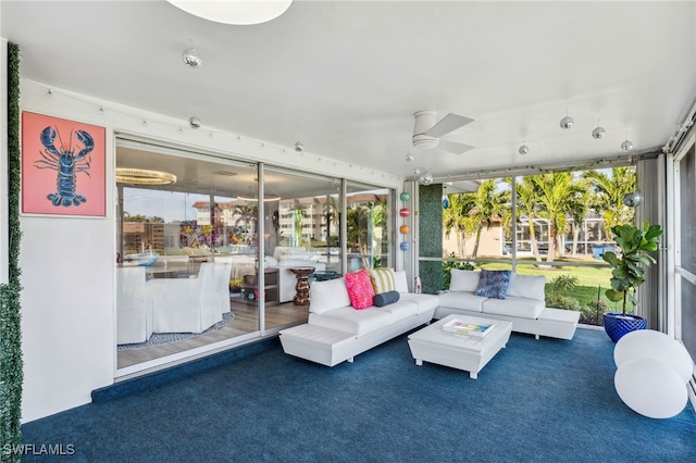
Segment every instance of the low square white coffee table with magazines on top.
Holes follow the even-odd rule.
[[[445,331],[443,325],[452,318],[477,325],[493,324],[484,337]],[[411,354],[417,365],[437,363],[469,372],[476,379],[478,372],[508,343],[512,323],[465,315],[448,315],[409,336]]]

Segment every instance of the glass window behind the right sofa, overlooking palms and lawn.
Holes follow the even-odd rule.
[[[633,221],[634,210],[622,198],[635,190],[634,167],[515,177],[517,247],[508,232],[512,225],[507,225],[512,221],[505,195],[511,182],[483,179],[476,192],[450,196],[453,208],[443,214],[443,252],[455,248],[447,245],[448,232],[459,229],[462,246],[457,249],[464,252],[457,258],[476,267],[544,275],[547,306],[579,310],[582,323],[598,325],[601,313],[621,311],[606,298],[611,268],[601,254],[613,250],[610,226]],[[505,242],[500,251],[496,239]]]

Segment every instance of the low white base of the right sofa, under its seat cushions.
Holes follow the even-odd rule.
[[[522,318],[517,316],[438,306],[435,309],[434,317],[439,320],[450,314],[511,322],[513,331],[534,335],[536,339],[538,339],[539,336],[558,339],[573,339],[575,328],[577,328],[577,321],[580,320],[580,312],[551,308],[544,309],[536,318]]]

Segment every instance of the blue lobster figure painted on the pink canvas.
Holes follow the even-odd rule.
[[[53,140],[58,136],[60,147],[55,147]],[[41,143],[46,147],[46,152],[39,151],[42,159],[35,162],[36,168],[50,168],[58,171],[55,180],[58,191],[49,193],[46,198],[53,205],[79,205],[87,201],[84,195],[76,192],[77,179],[76,175],[84,172],[89,177],[89,168],[91,167],[91,158],[87,154],[95,148],[95,140],[91,135],[85,130],[76,130],[75,138],[83,145],[83,149],[74,154],[73,132],[70,134],[70,145],[67,148],[63,145],[63,140],[55,128],[48,126],[41,132]]]

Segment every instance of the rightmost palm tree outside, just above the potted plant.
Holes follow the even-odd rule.
[[[605,171],[587,171],[584,176],[594,184],[593,207],[604,220],[606,235],[612,237],[611,228],[633,222],[635,211],[623,203],[623,196],[635,191],[635,168],[612,167],[610,174]]]

